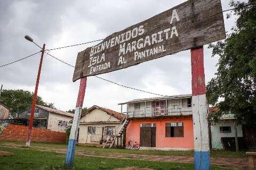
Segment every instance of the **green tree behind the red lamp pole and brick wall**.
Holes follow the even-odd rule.
[[[17,117],[18,113],[25,111],[31,106],[34,93],[25,90],[3,90],[0,98],[0,103],[4,104],[10,109],[11,117]],[[46,103],[42,97],[37,96],[36,104],[46,107],[55,108],[53,103]]]

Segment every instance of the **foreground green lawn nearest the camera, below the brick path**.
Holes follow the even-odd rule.
[[[63,167],[65,154],[58,154],[49,151],[38,151],[33,148],[1,148],[2,151],[12,152],[14,155],[0,157],[0,168],[6,170],[53,170],[66,169]],[[151,162],[146,160],[130,160],[130,159],[111,159],[111,158],[97,158],[76,156],[75,164],[76,170],[79,169],[115,169],[119,167],[148,167],[152,169],[193,169],[193,164],[188,163],[172,163],[172,162]],[[221,168],[212,166],[213,170],[222,170],[228,168]]]

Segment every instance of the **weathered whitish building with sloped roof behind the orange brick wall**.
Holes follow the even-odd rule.
[[[12,120],[12,124],[28,125],[30,113],[31,108],[28,108],[25,112],[18,115],[18,119]],[[73,113],[36,105],[33,127],[50,129],[55,132],[66,132],[68,122],[72,120],[73,117]]]

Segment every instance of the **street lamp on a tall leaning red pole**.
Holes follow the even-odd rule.
[[[38,46],[33,41],[33,38],[31,38],[30,36],[26,35],[25,39],[34,43],[36,46]],[[41,48],[40,46],[38,46],[38,47]],[[43,48],[41,48],[41,49],[42,49],[42,54],[41,54],[41,60],[40,60],[38,73],[37,73],[36,87],[35,87],[33,102],[32,102],[32,106],[31,106],[31,113],[30,113],[30,117],[29,117],[29,126],[28,126],[28,135],[27,135],[26,147],[30,146],[30,141],[31,141],[31,133],[32,133],[32,128],[33,128],[33,120],[34,120],[34,113],[35,113],[35,106],[36,106],[37,89],[38,89],[38,84],[39,84],[39,79],[40,79],[40,74],[41,74],[41,68],[42,68],[42,63],[43,63],[45,44],[43,45]]]

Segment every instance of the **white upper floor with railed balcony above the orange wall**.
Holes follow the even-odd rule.
[[[191,95],[135,99],[126,103],[127,118],[192,115]]]

